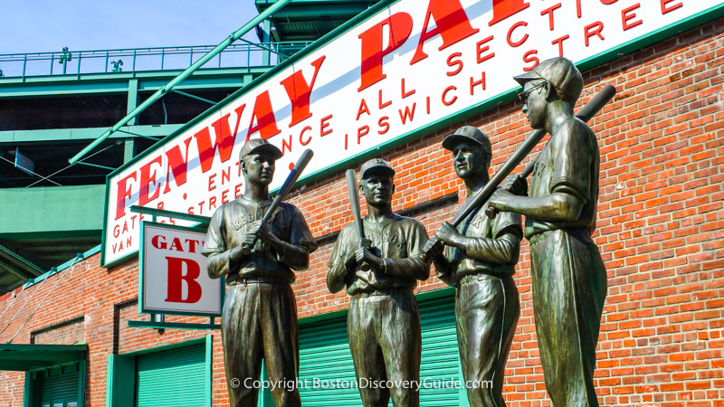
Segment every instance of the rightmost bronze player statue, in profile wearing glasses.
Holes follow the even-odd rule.
[[[490,205],[526,215],[540,361],[553,405],[597,406],[593,375],[606,271],[591,239],[598,145],[593,131],[573,114],[583,79],[572,62],[554,58],[515,80],[523,86],[530,126],[551,137],[537,157],[528,196],[504,186]]]

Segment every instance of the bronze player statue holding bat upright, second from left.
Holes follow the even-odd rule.
[[[363,221],[367,241],[359,240],[354,224],[345,226],[327,273],[329,291],[347,286],[351,296],[349,350],[362,403],[368,407],[386,406],[390,396],[395,407],[419,405],[414,383],[420,377],[422,344],[413,290],[417,280],[427,279],[430,272],[420,257],[427,232],[422,223],[392,212],[394,175],[395,170],[379,158],[362,166],[359,190],[367,201]],[[386,388],[386,381],[411,383]]]

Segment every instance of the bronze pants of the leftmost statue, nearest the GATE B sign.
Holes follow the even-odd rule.
[[[226,290],[221,319],[224,369],[231,407],[257,404],[262,358],[271,382],[291,381],[291,386],[271,390],[279,406],[300,406],[296,388],[299,371],[297,303],[289,283],[248,283]]]

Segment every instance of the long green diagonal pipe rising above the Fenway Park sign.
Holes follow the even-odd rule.
[[[206,62],[209,62],[216,54],[219,52],[222,52],[224,48],[231,45],[234,41],[238,40],[242,37],[243,34],[248,33],[253,27],[256,26],[256,24],[261,23],[264,21],[267,17],[269,17],[271,14],[274,14],[277,10],[279,10],[284,5],[287,5],[287,3],[290,3],[291,0],[279,0],[271,7],[267,8],[262,12],[262,14],[257,15],[256,17],[252,18],[252,21],[250,21],[247,24],[244,24],[242,28],[237,30],[236,32],[229,35],[228,38],[226,38],[222,43],[216,45],[213,50],[206,53],[201,59],[196,61],[193,65],[186,68],[186,71],[183,71],[176,76],[173,80],[168,82],[166,85],[161,87],[161,89],[157,90],[153,95],[151,95],[150,98],[146,99],[143,103],[138,105],[136,109],[133,109],[125,118],[121,118],[120,121],[116,124],[114,124],[111,128],[105,131],[100,137],[93,140],[90,145],[83,148],[80,153],[76,154],[75,156],[72,156],[70,160],[68,160],[69,163],[75,164],[80,160],[83,156],[88,154],[93,148],[98,147],[100,143],[103,142],[106,138],[110,137],[111,134],[115,133],[119,130],[119,128],[122,128],[130,121],[131,118],[135,118],[138,116],[140,112],[147,109],[149,106],[151,106],[156,100],[160,99],[163,95],[167,93],[168,90],[173,89],[180,81],[185,80],[189,76],[191,76],[194,71],[199,69],[201,66],[203,66]]]

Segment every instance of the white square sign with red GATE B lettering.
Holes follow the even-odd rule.
[[[221,315],[223,280],[210,279],[201,254],[206,233],[142,222],[140,312]]]

